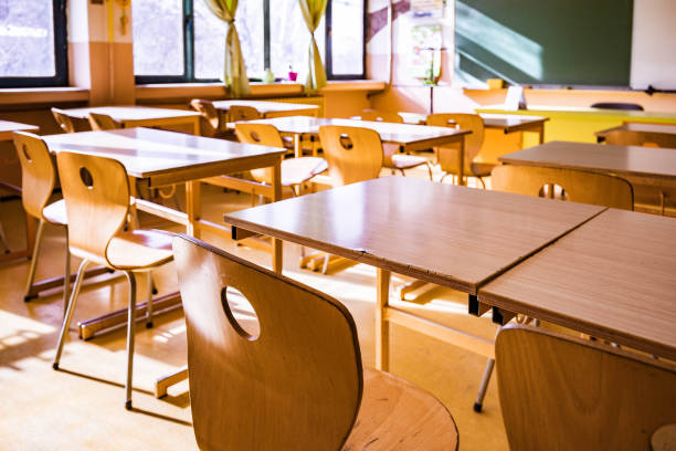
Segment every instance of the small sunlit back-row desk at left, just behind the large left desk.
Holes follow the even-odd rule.
[[[89,113],[107,114],[124,128],[162,127],[187,125],[193,135],[200,134],[201,114],[188,109],[152,108],[149,106],[94,106],[64,109],[64,114],[75,119],[87,119]]]

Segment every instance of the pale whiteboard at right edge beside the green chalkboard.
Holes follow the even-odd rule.
[[[631,87],[676,90],[676,0],[634,0]]]

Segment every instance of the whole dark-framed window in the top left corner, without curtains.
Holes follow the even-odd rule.
[[[67,84],[65,0],[0,0],[0,87]]]

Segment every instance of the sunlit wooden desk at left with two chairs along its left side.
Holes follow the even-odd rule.
[[[141,180],[148,187],[186,183],[186,212],[140,198],[136,198],[134,208],[184,226],[187,233],[193,237],[199,237],[201,230],[228,237],[231,233],[230,228],[200,218],[202,178],[273,167],[273,201],[282,199],[283,149],[151,128],[71,133],[44,136],[43,139],[50,151],[54,154],[67,150],[114,158],[125,166],[130,177]],[[131,195],[135,196],[136,185],[129,185]],[[281,271],[281,269],[282,243],[279,240],[274,240],[273,270]],[[145,308],[145,305],[139,308]],[[107,315],[101,323],[85,322],[81,326],[81,336],[91,337],[97,331],[125,321],[126,315],[123,312],[114,319]]]

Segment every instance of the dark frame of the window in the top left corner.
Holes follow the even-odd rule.
[[[68,85],[68,42],[66,30],[66,0],[52,0],[54,19],[54,75],[0,76],[3,87],[49,87]]]

